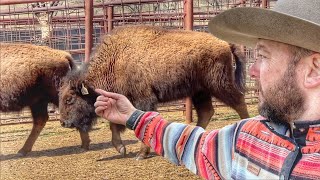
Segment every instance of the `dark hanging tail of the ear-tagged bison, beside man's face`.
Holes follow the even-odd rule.
[[[234,44],[230,44],[230,49],[233,54],[236,69],[235,69],[235,81],[238,86],[238,89],[241,92],[246,91],[246,61],[243,52],[241,51],[239,46]]]

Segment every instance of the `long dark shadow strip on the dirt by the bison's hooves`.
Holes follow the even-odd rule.
[[[123,140],[122,141],[125,145],[129,144],[135,144],[138,142],[138,140]],[[99,151],[103,149],[109,149],[114,148],[111,142],[105,142],[105,143],[96,143],[96,144],[90,144],[90,149],[88,151]],[[61,147],[56,149],[46,149],[41,151],[31,151],[28,153],[27,156],[20,156],[18,154],[6,154],[0,155],[0,161],[7,161],[7,160],[13,160],[13,159],[20,159],[20,158],[30,158],[30,157],[54,157],[54,156],[64,156],[64,155],[72,155],[72,154],[81,154],[86,152],[86,150],[82,149],[81,146],[67,146],[67,147]]]

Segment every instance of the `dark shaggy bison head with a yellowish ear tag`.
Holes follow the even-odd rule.
[[[97,118],[94,102],[98,94],[83,79],[80,70],[64,78],[59,92],[59,110],[63,127],[87,132]]]

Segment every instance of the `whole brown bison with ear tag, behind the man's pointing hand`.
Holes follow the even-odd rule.
[[[208,33],[151,26],[115,29],[102,40],[88,64],[63,80],[59,95],[61,124],[90,130],[96,119],[96,88],[124,94],[145,111],[156,110],[158,103],[192,97],[197,125],[203,128],[214,114],[212,97],[247,118],[242,92],[244,63],[234,56],[235,76],[233,52],[233,46]],[[125,127],[111,124],[110,128],[113,145],[124,155],[120,131]],[[142,146],[137,158],[145,158],[148,153],[149,148]]]

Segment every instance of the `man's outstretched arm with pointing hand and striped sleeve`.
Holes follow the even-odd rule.
[[[201,127],[170,123],[157,112],[137,110],[123,95],[96,91],[101,94],[95,103],[96,113],[134,130],[157,154],[206,179],[230,176],[236,124],[206,132]]]

